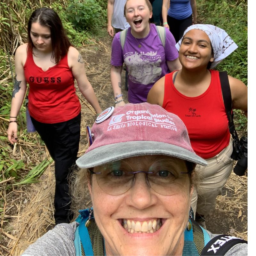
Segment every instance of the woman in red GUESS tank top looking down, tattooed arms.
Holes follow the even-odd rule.
[[[88,81],[81,54],[65,35],[61,20],[50,8],[35,10],[28,21],[28,43],[15,53],[8,140],[18,141],[17,115],[29,84],[28,110],[55,163],[55,224],[69,222],[67,176],[75,163],[80,140],[81,104],[78,88],[97,114],[101,108]]]

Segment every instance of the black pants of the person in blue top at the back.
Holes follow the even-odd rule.
[[[192,14],[183,20],[176,20],[167,15],[167,22],[176,43],[178,43],[186,28],[192,25]]]

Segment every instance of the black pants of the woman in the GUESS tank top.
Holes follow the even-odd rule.
[[[71,199],[67,177],[77,158],[81,113],[66,122],[56,124],[41,123],[33,117],[31,120],[55,164],[55,224],[69,223],[73,218],[73,213],[70,210]]]

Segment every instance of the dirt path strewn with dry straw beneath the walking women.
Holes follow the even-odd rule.
[[[114,106],[113,91],[110,83],[110,57],[112,38],[105,34],[100,41],[80,47],[86,73],[91,82],[100,106],[106,109]],[[124,101],[127,103],[127,92],[124,90],[124,73],[122,72]],[[87,149],[86,126],[90,127],[96,118],[93,108],[84,100],[77,89],[82,104],[81,140],[79,156]],[[46,153],[47,154],[47,153]],[[13,216],[9,216],[10,224],[3,230],[4,246],[0,247],[2,255],[20,255],[38,237],[46,232],[46,228],[54,223],[53,194],[54,171],[51,165],[40,178],[41,182],[25,187],[15,197]],[[13,192],[15,195],[15,191]],[[88,207],[90,197],[85,202]],[[10,214],[9,214],[10,215]],[[13,217],[13,218],[12,218]],[[238,177],[233,172],[227,185],[218,196],[216,210],[207,216],[206,227],[216,234],[231,234],[247,239],[247,177]]]

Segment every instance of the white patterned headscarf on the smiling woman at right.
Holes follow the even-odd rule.
[[[234,52],[238,47],[236,43],[228,36],[227,32],[221,28],[218,28],[209,24],[195,24],[189,26],[185,31],[180,41],[175,45],[178,51],[180,50],[180,44],[184,35],[191,29],[203,30],[207,36],[209,36],[212,43],[214,60],[211,68],[216,67],[221,60],[224,60],[230,53]]]

